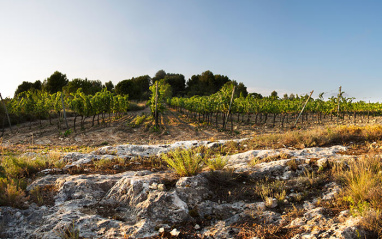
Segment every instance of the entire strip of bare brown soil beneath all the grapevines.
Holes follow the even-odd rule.
[[[139,117],[145,115],[145,119],[136,124]],[[95,118],[94,126],[92,117],[85,119],[85,123],[81,129],[80,117],[76,120],[76,130],[74,130],[74,117],[68,117],[69,129],[65,127],[65,123],[61,121],[61,128],[58,127],[58,119],[43,120],[41,122],[26,122],[10,128],[6,128],[2,137],[3,145],[46,145],[46,146],[91,146],[98,147],[104,145],[116,144],[158,144],[172,143],[183,140],[218,140],[218,139],[238,139],[248,138],[259,134],[270,134],[291,130],[290,126],[280,127],[280,123],[272,123],[270,117],[269,122],[256,123],[254,116],[250,122],[236,122],[234,116],[233,127],[228,122],[227,129],[221,130],[216,128],[215,123],[207,125],[205,122],[199,122],[198,117],[192,118],[185,114],[168,109],[161,115],[161,126],[159,130],[154,130],[154,121],[150,117],[150,109],[146,107],[143,110],[130,111],[121,117],[105,115]],[[381,122],[380,117],[357,119],[356,125]],[[349,121],[349,122],[347,122]],[[349,119],[342,121],[340,124],[355,124]],[[221,122],[221,120],[220,120]],[[219,122],[219,125],[221,123]],[[321,126],[328,126],[333,122],[317,124],[314,120],[308,123],[298,124],[297,129],[307,129]],[[310,122],[310,123],[309,123]],[[232,130],[232,131],[231,131]]]

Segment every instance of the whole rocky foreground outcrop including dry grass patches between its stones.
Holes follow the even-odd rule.
[[[245,141],[237,140],[246,147]],[[175,148],[225,141],[105,146],[70,152],[65,167],[40,172],[27,188],[40,196],[25,209],[0,207],[2,238],[365,238],[359,218],[326,207],[340,185],[324,172],[346,167],[348,148],[248,150],[227,156],[223,170],[178,177],[167,168],[118,164],[109,173],[88,170],[100,161],[150,159]],[[350,153],[349,153],[350,154]],[[33,155],[32,155],[33,156]],[[259,160],[259,163],[252,163]],[[315,174],[316,173],[316,174]],[[36,193],[37,192],[37,193]],[[75,237],[78,233],[78,237]],[[369,237],[371,238],[371,237]]]

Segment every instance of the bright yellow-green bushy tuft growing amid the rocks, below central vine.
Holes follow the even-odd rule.
[[[162,159],[181,177],[198,174],[202,170],[202,157],[192,149],[176,149],[163,154]]]

